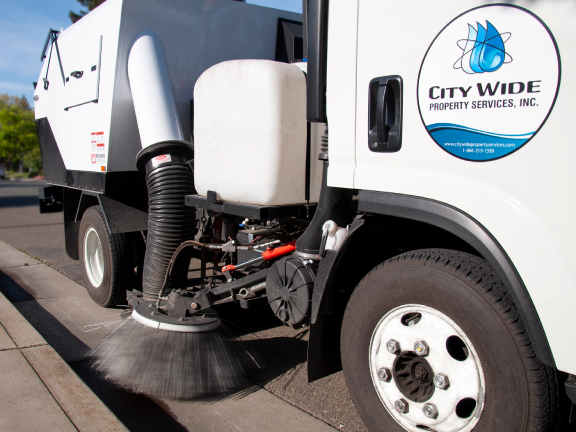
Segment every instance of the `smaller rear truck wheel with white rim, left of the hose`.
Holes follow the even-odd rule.
[[[84,285],[94,302],[114,307],[126,300],[134,278],[133,253],[127,234],[109,234],[100,206],[82,216],[78,251]]]

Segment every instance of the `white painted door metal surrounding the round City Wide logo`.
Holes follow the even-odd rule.
[[[569,79],[576,73],[573,3],[514,2],[550,29],[561,57],[562,82],[549,118],[532,140],[506,157],[485,162],[455,157],[434,142],[420,117],[417,85],[422,61],[437,35],[460,14],[486,2],[359,3],[354,187],[434,199],[483,224],[510,256],[528,288],[557,366],[576,373],[576,329],[571,319],[576,304],[576,171],[572,167],[576,147],[571,136],[576,83]],[[506,26],[505,20],[496,27],[507,32],[502,26]],[[463,32],[466,40],[467,29]],[[453,42],[446,49],[455,54],[456,63],[462,49],[457,40]],[[521,61],[521,42],[519,34],[512,34],[510,54],[517,62]],[[541,49],[538,45],[533,48],[534,54]],[[542,67],[550,64],[545,57]],[[451,63],[447,70],[452,68]],[[458,73],[467,79],[464,71]],[[531,74],[534,78],[529,78]],[[367,140],[368,84],[386,75],[400,75],[404,80],[402,149],[374,153]],[[548,79],[538,76],[537,68],[526,71],[526,79]],[[480,111],[469,111],[471,116],[476,113],[480,115]]]

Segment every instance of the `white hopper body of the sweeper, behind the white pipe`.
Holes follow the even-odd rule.
[[[49,90],[43,89],[44,75],[41,75],[35,91],[39,98],[34,104],[36,118],[48,117],[68,170],[135,171],[141,142],[127,67],[137,35],[150,30],[162,41],[178,117],[183,135],[188,139],[191,136],[190,101],[200,74],[226,60],[274,59],[280,17],[301,21],[300,14],[230,0],[108,0],[58,38],[62,51],[70,46],[75,53],[62,58],[69,85],[75,80],[70,73],[85,67],[83,44],[102,36],[98,103],[85,103],[64,111],[70,105],[53,52]],[[86,60],[88,64],[91,61]],[[46,66],[47,60],[44,74]],[[78,83],[83,82],[84,77],[78,79]],[[87,86],[86,91],[90,93],[93,88]],[[70,94],[74,101],[83,101],[92,93],[85,96],[72,91]],[[95,154],[92,150],[93,134],[104,143],[101,153]]]

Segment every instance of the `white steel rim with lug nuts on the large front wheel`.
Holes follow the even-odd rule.
[[[422,342],[425,355],[417,353]],[[404,429],[474,429],[485,405],[484,372],[470,339],[448,316],[423,305],[399,306],[382,317],[369,349],[374,388]]]

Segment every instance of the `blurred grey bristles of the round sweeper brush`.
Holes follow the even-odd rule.
[[[222,326],[182,333],[130,317],[88,355],[107,379],[137,393],[197,399],[246,385],[247,353]]]

